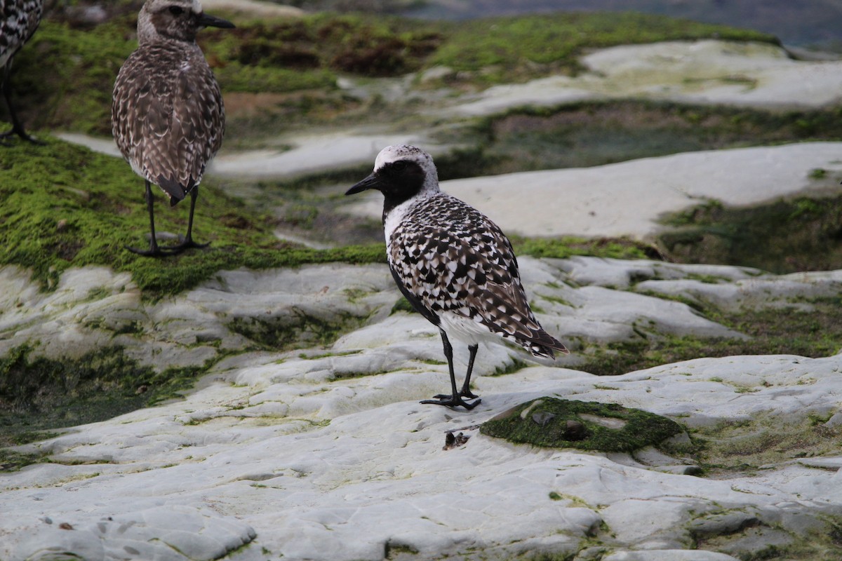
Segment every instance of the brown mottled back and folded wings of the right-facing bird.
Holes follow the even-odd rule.
[[[183,199],[200,183],[225,127],[219,85],[199,48],[136,50],[115,82],[112,127],[135,171],[162,188],[171,204]]]

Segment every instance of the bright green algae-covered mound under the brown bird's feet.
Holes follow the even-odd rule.
[[[46,146],[14,143],[0,151],[0,266],[31,270],[42,288],[56,288],[69,267],[87,265],[129,272],[144,296],[155,298],[193,288],[225,269],[386,262],[382,244],[313,250],[279,241],[277,219],[212,182],[201,185],[194,225],[195,239],[210,246],[161,259],[138,256],[125,247],[148,245],[141,178],[125,161],[45,140]],[[169,208],[163,194],[156,199],[158,234],[183,235],[189,205]]]

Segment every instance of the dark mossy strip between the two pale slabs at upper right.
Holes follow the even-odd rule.
[[[842,108],[769,111],[637,100],[513,109],[445,138],[477,146],[477,176],[840,139]]]

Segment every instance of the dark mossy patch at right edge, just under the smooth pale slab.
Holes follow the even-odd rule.
[[[838,183],[814,170],[822,183]],[[658,245],[679,262],[727,263],[771,273],[842,268],[842,197],[795,198],[748,209],[706,204],[667,220]]]

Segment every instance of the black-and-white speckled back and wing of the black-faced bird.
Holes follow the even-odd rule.
[[[408,213],[389,244],[392,269],[420,304],[475,320],[536,355],[566,352],[530,310],[511,243],[497,225],[449,196],[426,204],[427,220],[420,214]]]

